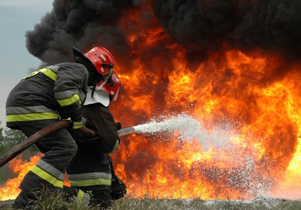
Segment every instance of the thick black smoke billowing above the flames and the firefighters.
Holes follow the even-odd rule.
[[[101,45],[113,55],[129,57],[120,16],[145,4],[193,61],[219,51],[223,44],[290,58],[301,55],[299,0],[55,0],[51,12],[26,33],[27,49],[46,64],[73,60],[73,46],[87,50]]]

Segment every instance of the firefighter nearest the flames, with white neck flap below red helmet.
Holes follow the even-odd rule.
[[[88,88],[87,98],[82,108],[85,126],[94,130],[97,137],[87,138],[74,133],[78,150],[67,167],[67,176],[72,187],[91,194],[90,205],[107,208],[112,200],[126,193],[126,185],[115,174],[111,153],[119,146],[117,130],[120,123],[115,120],[108,107],[118,97],[121,82],[113,72],[112,77],[103,85],[103,81]],[[71,132],[72,133],[72,132]]]

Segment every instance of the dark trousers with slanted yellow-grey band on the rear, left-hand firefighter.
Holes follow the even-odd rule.
[[[19,129],[29,137],[54,122],[22,125]],[[50,133],[35,144],[45,155],[24,176],[19,186],[21,192],[13,203],[14,208],[32,205],[37,199],[36,192],[44,187],[52,192],[63,192],[66,167],[77,151],[76,142],[66,129]]]

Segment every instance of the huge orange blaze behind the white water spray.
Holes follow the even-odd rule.
[[[142,21],[145,10],[152,17],[146,7],[127,11],[121,19],[135,59],[129,63],[115,56],[122,89],[110,110],[123,128],[185,113],[201,122],[205,140],[179,140],[176,131],[122,137],[112,157],[128,193],[300,198],[301,63],[226,44],[220,52],[195,61],[155,18]],[[162,46],[165,50],[154,50]],[[12,187],[17,190],[19,183]]]

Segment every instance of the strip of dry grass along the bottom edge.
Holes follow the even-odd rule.
[[[76,201],[67,202],[62,195],[50,193],[44,190],[37,194],[38,200],[33,209],[53,209],[53,210],[96,210],[99,208],[87,206]],[[75,199],[74,199],[75,200]],[[0,209],[12,209],[10,203],[0,202]],[[113,202],[110,210],[157,210],[157,209],[178,209],[178,210],[296,210],[301,209],[301,200],[281,200],[273,206],[266,202],[256,201],[233,201],[233,200],[200,200],[200,199],[159,199],[144,197],[124,196]]]

